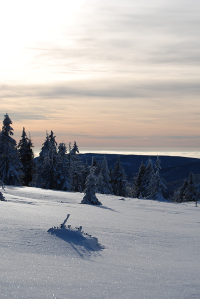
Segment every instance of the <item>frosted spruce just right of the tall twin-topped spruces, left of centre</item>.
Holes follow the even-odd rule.
[[[57,188],[58,190],[71,191],[71,178],[69,172],[69,160],[67,157],[67,148],[64,142],[58,147],[57,163]]]

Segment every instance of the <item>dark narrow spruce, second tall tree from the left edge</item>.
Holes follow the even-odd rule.
[[[33,148],[31,138],[27,138],[25,129],[23,128],[21,140],[19,141],[17,149],[20,161],[23,164],[22,171],[24,173],[23,181],[25,186],[28,186],[32,181],[33,150],[31,148]]]

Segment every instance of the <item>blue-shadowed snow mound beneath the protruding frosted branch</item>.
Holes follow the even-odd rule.
[[[104,246],[100,245],[96,237],[92,237],[88,233],[80,232],[80,228],[52,227],[49,228],[47,232],[69,243],[81,257],[90,256],[104,249]]]

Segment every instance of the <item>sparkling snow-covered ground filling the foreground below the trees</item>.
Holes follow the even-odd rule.
[[[3,193],[0,298],[200,299],[194,202],[97,194],[102,206],[92,206],[80,204],[83,193],[15,186]],[[71,229],[57,228],[67,214]]]

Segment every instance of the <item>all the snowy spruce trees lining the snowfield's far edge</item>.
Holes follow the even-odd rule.
[[[133,181],[126,179],[119,156],[113,169],[108,169],[106,157],[102,162],[93,158],[92,165],[83,162],[79,149],[74,142],[69,150],[64,142],[59,146],[54,133],[46,132],[46,139],[39,153],[34,158],[31,137],[27,137],[23,128],[19,144],[12,138],[12,122],[6,114],[0,131],[0,186],[24,185],[46,189],[85,192],[82,203],[101,203],[96,193],[114,194],[121,197],[143,197],[162,199],[166,182],[160,177],[160,159],[157,156],[155,170],[151,158],[147,165],[143,162]],[[184,185],[175,191],[174,201],[194,200],[195,187],[192,174]],[[3,200],[0,193],[0,200]]]

